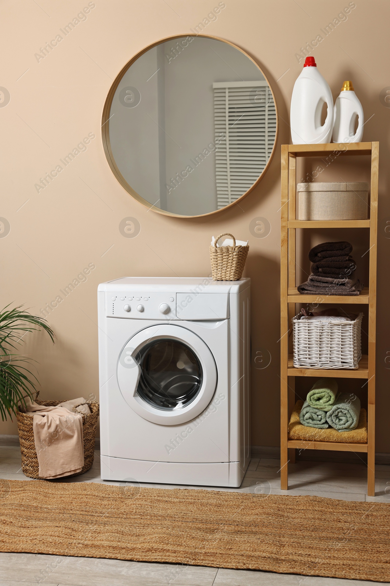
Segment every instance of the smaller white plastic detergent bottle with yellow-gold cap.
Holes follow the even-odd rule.
[[[359,121],[355,132],[356,117]],[[361,142],[363,125],[363,108],[352,81],[344,81],[340,96],[334,103],[333,142]]]

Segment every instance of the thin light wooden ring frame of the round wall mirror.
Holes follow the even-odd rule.
[[[275,104],[275,114],[276,114],[276,131],[275,131],[275,142],[274,142],[274,146],[272,147],[272,151],[271,151],[271,155],[270,158],[267,161],[267,164],[265,165],[263,171],[261,172],[260,176],[258,177],[258,179],[256,180],[256,182],[253,183],[253,185],[250,187],[250,189],[248,189],[245,193],[243,193],[243,195],[241,195],[238,199],[234,200],[234,202],[229,203],[227,206],[225,207],[221,207],[219,210],[214,210],[213,212],[208,212],[206,214],[199,214],[199,216],[182,216],[181,214],[174,214],[172,212],[167,212],[165,210],[161,210],[160,207],[156,207],[153,204],[150,204],[150,202],[148,202],[146,199],[144,199],[143,197],[141,197],[139,195],[139,193],[137,193],[136,191],[134,191],[134,189],[129,185],[129,183],[127,183],[126,179],[123,177],[122,173],[119,171],[118,166],[116,165],[115,159],[113,157],[112,154],[112,150],[111,150],[111,143],[110,143],[110,136],[109,136],[109,120],[110,120],[110,110],[111,110],[111,104],[112,104],[112,100],[113,97],[115,96],[115,92],[116,89],[119,86],[120,81],[122,80],[122,77],[125,75],[126,71],[132,66],[132,64],[134,62],[136,62],[136,60],[143,55],[144,53],[146,53],[147,51],[149,51],[149,49],[153,49],[153,47],[156,47],[157,45],[160,45],[161,43],[165,43],[168,40],[174,40],[174,39],[181,39],[182,37],[189,37],[192,36],[194,38],[196,37],[203,37],[206,39],[215,39],[215,40],[220,40],[223,43],[227,43],[227,45],[230,45],[232,47],[234,47],[234,49],[239,50],[241,53],[243,53],[246,57],[248,57],[248,59],[251,60],[251,62],[253,62],[256,67],[260,70],[260,73],[264,76],[265,81],[267,81],[268,87],[270,88],[271,94],[272,94],[272,98],[274,100],[274,104]],[[108,161],[108,164],[111,168],[111,171],[113,172],[113,174],[115,175],[116,179],[118,179],[120,185],[122,185],[123,189],[125,189],[127,191],[127,193],[129,193],[129,195],[131,195],[132,197],[134,197],[134,199],[137,200],[137,202],[140,202],[142,205],[146,206],[148,209],[153,210],[153,212],[157,212],[159,214],[164,214],[164,216],[172,216],[172,217],[178,217],[178,218],[196,218],[196,217],[203,217],[203,216],[211,216],[212,214],[216,214],[218,212],[222,212],[222,210],[226,210],[229,207],[234,206],[237,202],[240,202],[241,199],[244,199],[244,197],[246,197],[248,195],[248,193],[250,193],[260,182],[260,180],[263,178],[263,175],[265,173],[265,171],[267,171],[268,166],[270,165],[271,161],[272,161],[272,157],[274,156],[274,152],[275,152],[275,147],[278,141],[278,128],[279,128],[279,124],[278,124],[278,110],[277,110],[277,104],[275,101],[275,96],[274,96],[274,92],[272,91],[271,88],[271,84],[268,81],[267,77],[264,75],[263,70],[261,70],[261,67],[258,65],[258,63],[256,63],[256,61],[254,59],[252,59],[252,57],[246,53],[243,49],[240,49],[240,47],[238,47],[237,45],[234,45],[234,43],[230,43],[230,41],[225,40],[225,39],[220,39],[219,37],[215,37],[212,35],[173,35],[173,36],[168,36],[165,37],[163,39],[157,40],[155,43],[152,43],[151,45],[148,45],[147,47],[145,47],[144,49],[142,49],[139,53],[137,53],[136,55],[134,55],[134,57],[132,57],[132,59],[130,59],[129,62],[126,63],[125,67],[123,67],[118,75],[116,76],[109,92],[108,92],[108,96],[106,97],[106,101],[103,107],[103,114],[102,114],[102,141],[103,141],[103,149],[106,155],[106,159]]]

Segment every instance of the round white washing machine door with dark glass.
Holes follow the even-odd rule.
[[[136,333],[118,360],[126,403],[160,425],[191,421],[215,393],[217,370],[209,347],[182,326],[161,324]]]

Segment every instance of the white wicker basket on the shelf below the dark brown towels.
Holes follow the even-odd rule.
[[[312,369],[357,369],[361,359],[361,320],[317,321],[292,318],[294,366]]]

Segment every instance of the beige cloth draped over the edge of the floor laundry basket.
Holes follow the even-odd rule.
[[[84,399],[75,400],[75,404]],[[73,401],[69,401],[73,403]],[[34,443],[39,476],[60,478],[81,472],[84,466],[82,417],[65,407],[46,407],[26,398],[26,408],[34,413]],[[88,409],[89,411],[89,409]]]

